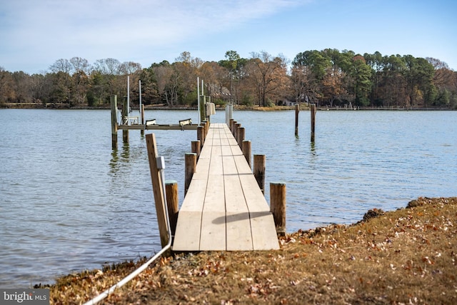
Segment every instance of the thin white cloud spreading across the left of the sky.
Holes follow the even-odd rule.
[[[1,60],[133,57],[140,49],[241,29],[297,0],[15,0],[0,4]],[[184,50],[181,50],[184,51]],[[9,53],[6,53],[9,52]],[[26,54],[29,54],[27,56]],[[27,58],[26,58],[27,57]],[[94,57],[94,58],[91,58]],[[41,63],[44,64],[44,63]],[[45,67],[45,66],[44,66]]]

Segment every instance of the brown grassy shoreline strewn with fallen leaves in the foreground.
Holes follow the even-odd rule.
[[[457,197],[420,197],[287,234],[278,251],[159,259],[101,304],[456,304],[456,240]],[[63,276],[51,304],[84,303],[143,262]]]

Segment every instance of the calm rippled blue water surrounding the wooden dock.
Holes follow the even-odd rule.
[[[351,224],[372,208],[418,196],[457,196],[456,111],[235,111],[268,183],[287,184],[287,231]],[[197,121],[196,111],[146,111],[147,119]],[[212,119],[223,122],[224,111]],[[0,287],[151,256],[161,249],[144,137],[119,132],[109,111],[0,109]],[[150,131],[148,131],[150,132]],[[196,131],[156,131],[166,179],[184,186]]]

